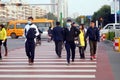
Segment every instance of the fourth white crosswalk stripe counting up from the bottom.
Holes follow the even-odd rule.
[[[0,64],[24,64],[24,63],[28,63],[28,62],[0,62]],[[35,62],[35,63],[39,63],[39,64],[64,64],[66,62]],[[74,62],[74,63],[78,63],[78,64],[96,64],[97,62]]]

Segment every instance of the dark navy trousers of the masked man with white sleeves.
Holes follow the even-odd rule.
[[[28,59],[31,59],[34,62],[35,56],[35,41],[34,40],[27,40],[25,43],[25,51]]]

